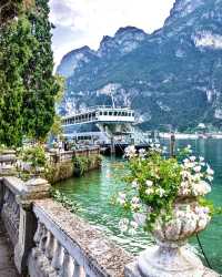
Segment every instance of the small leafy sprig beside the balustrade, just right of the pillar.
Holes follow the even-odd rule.
[[[62,206],[64,206],[71,213],[77,213],[77,211],[79,211],[79,204],[75,201],[67,197],[63,193],[60,193],[58,189],[51,189],[51,197],[61,203]]]

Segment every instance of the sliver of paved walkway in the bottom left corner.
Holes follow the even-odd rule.
[[[0,277],[19,277],[13,265],[13,249],[0,219]]]

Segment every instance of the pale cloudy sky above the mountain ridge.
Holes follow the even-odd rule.
[[[64,54],[89,45],[97,50],[103,35],[133,25],[151,33],[161,28],[175,0],[50,0],[50,20],[56,25],[54,63]]]

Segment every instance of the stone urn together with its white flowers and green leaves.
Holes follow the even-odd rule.
[[[120,228],[133,233],[141,225],[153,235],[157,246],[138,259],[142,276],[203,276],[201,260],[183,246],[188,238],[203,230],[213,209],[204,196],[211,192],[213,171],[203,157],[167,157],[157,144],[150,151],[133,146],[125,151],[128,183],[118,202],[132,213]]]

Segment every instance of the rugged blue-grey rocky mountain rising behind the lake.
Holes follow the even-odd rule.
[[[111,104],[112,93],[143,129],[221,129],[222,0],[176,0],[160,30],[121,28],[98,51],[68,53],[58,72],[67,78],[61,114]]]

